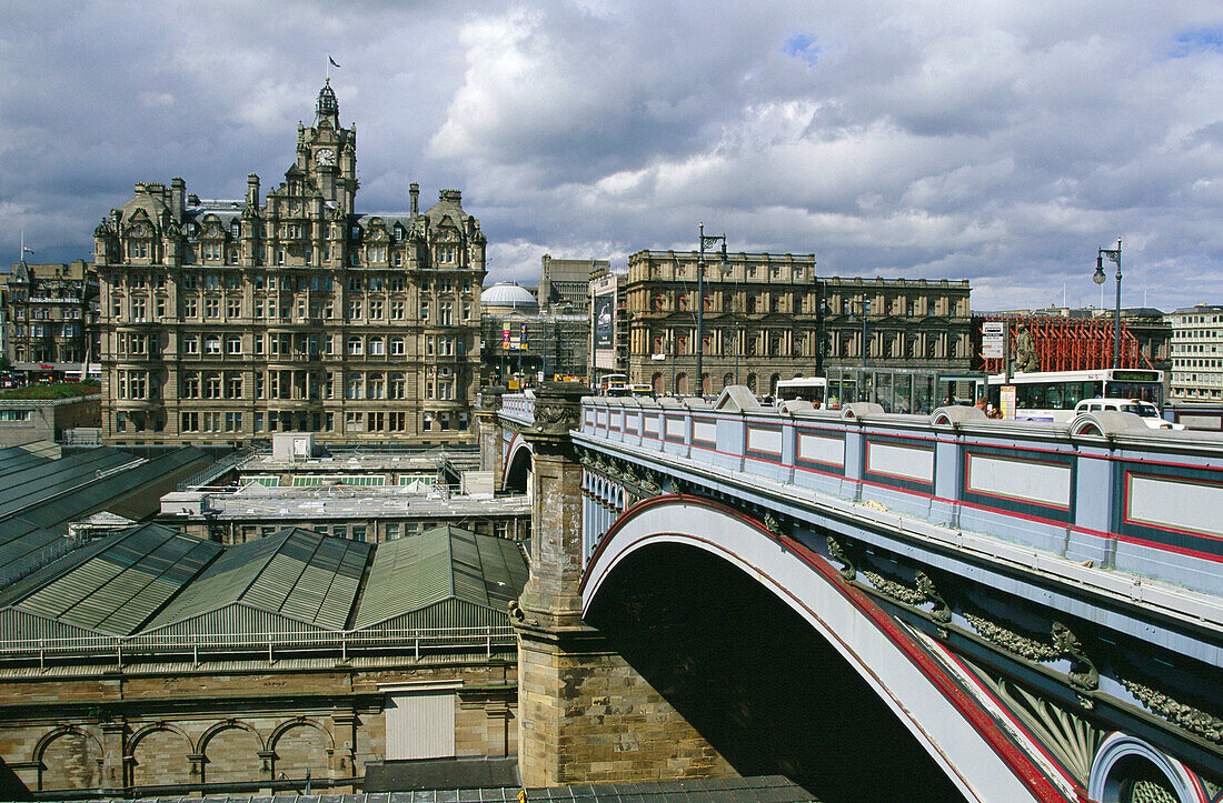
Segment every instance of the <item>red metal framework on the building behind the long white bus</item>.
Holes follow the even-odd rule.
[[[1015,336],[1020,324],[1027,326],[1032,346],[1040,356],[1040,370],[1093,370],[1113,367],[1113,318],[1066,318],[1063,315],[974,315],[972,331],[976,348],[974,362],[980,370],[996,374],[1003,369],[1002,359],[981,357],[981,324],[1002,320],[1010,326],[1010,353],[1015,354]],[[1120,368],[1155,368],[1139,348],[1139,341],[1121,321]]]

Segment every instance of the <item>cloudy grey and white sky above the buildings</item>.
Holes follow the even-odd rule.
[[[488,282],[539,258],[815,253],[978,309],[1223,303],[1223,5],[0,0],[0,263],[88,258],[136,181],[241,197],[327,54],[361,211],[462,189]],[[1112,269],[1109,269],[1112,276]],[[1110,307],[1112,279],[1106,286]],[[1064,295],[1064,296],[1063,296]]]

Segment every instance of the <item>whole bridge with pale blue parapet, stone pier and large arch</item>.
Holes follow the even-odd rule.
[[[528,783],[1223,799],[1223,438],[741,387],[483,412],[534,497]]]

